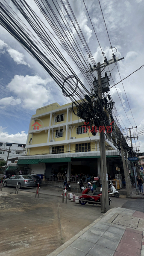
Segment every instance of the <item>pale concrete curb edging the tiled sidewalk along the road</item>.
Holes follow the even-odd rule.
[[[116,208],[116,207],[115,207]],[[95,220],[93,223],[85,227],[83,230],[79,231],[76,235],[74,235],[71,239],[69,239],[67,242],[62,244],[60,247],[58,247],[56,250],[54,250],[52,253],[47,254],[46,256],[57,256],[59,253],[61,253],[65,248],[67,248],[70,244],[72,244],[79,236],[81,236],[83,233],[85,233],[87,230],[89,230],[91,227],[93,227],[98,221],[100,221],[101,218],[105,217],[109,212],[111,212],[113,209],[110,209],[106,213],[100,216],[97,220]]]

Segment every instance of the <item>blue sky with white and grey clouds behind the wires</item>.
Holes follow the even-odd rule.
[[[6,2],[24,21],[24,18],[19,14],[12,2],[10,0]],[[35,10],[38,17],[44,21],[47,28],[53,31],[35,5],[35,1],[26,0],[26,2]],[[52,0],[48,0],[48,2],[54,9]],[[63,2],[68,8],[66,0]],[[96,63],[103,63],[104,60],[100,46],[106,58],[108,60],[112,59],[110,38],[112,46],[117,49],[115,55],[119,58],[124,57],[123,60],[118,62],[121,79],[144,64],[144,0],[100,0],[109,38],[98,0],[85,0],[100,46],[83,0],[71,0],[69,2]],[[56,3],[56,0],[54,0],[54,3]],[[58,3],[60,4],[60,0],[58,0]],[[68,18],[66,13],[65,18]],[[29,29],[32,31],[30,26]],[[62,47],[59,45],[58,47],[59,51],[66,56]],[[88,56],[85,57],[88,58]],[[68,58],[68,62],[79,76],[79,71],[76,70],[70,58]],[[111,73],[114,82],[119,82],[120,76],[117,67],[110,65],[109,69],[113,69]],[[121,82],[116,85],[118,93],[115,87],[110,90],[122,120],[120,120],[120,124],[123,128],[135,127],[135,124],[138,129],[144,127],[143,73],[144,71],[141,69],[125,79],[123,85]],[[114,84],[112,78],[109,83],[110,86]],[[56,86],[58,87],[41,65],[9,32],[0,26],[0,142],[26,143],[30,117],[35,114],[36,109],[54,102],[60,105],[68,103],[67,99],[62,95],[61,89],[59,91]],[[140,150],[144,152],[144,136],[140,136],[138,140]],[[137,140],[132,142],[134,146],[135,142],[138,146]]]

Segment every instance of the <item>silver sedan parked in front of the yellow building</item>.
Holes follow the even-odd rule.
[[[4,179],[3,186],[16,186],[18,183],[18,185],[24,187],[35,187],[35,181],[35,179],[27,175],[14,175],[8,179]]]

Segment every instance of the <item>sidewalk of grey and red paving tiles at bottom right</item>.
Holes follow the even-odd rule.
[[[144,213],[113,208],[47,256],[144,256]]]

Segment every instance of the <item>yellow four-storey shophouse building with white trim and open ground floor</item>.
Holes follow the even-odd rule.
[[[71,104],[53,103],[36,110],[29,124],[26,155],[18,157],[25,173],[50,175],[68,172],[100,175],[100,134],[93,136],[82,127],[84,120],[74,115]],[[120,154],[111,140],[106,139],[106,157],[111,175]],[[111,164],[110,164],[111,163]]]

